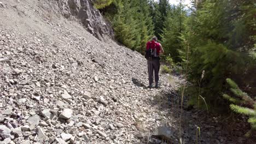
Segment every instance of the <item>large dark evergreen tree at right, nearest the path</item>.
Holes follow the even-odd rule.
[[[226,77],[244,75],[251,63],[252,5],[251,0],[201,1],[200,7],[191,11],[184,34],[190,45],[189,80],[198,83],[201,71],[206,71],[202,92],[208,104],[224,105],[216,93],[224,91]]]

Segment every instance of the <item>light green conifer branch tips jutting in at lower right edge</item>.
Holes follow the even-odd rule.
[[[235,96],[233,98],[228,94],[223,94],[223,97],[231,102],[230,109],[236,113],[248,116],[248,123],[251,124],[252,129],[256,129],[256,101],[249,97],[246,93],[242,92],[236,83],[231,79],[226,79],[226,82],[231,87],[230,90]],[[249,136],[251,131],[248,131],[246,136]]]

